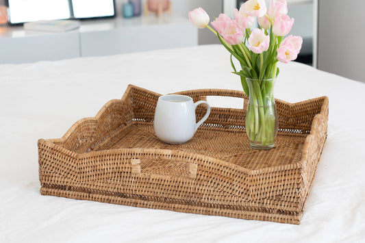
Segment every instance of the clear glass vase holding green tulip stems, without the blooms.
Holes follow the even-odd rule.
[[[246,132],[252,149],[271,149],[277,136],[277,110],[274,99],[275,79],[246,79],[249,104]]]

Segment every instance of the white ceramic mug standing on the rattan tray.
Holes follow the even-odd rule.
[[[195,109],[207,105],[207,113],[199,123],[195,123]],[[210,105],[206,101],[194,103],[191,97],[167,94],[158,99],[155,111],[155,135],[168,144],[183,144],[194,136],[198,127],[210,115]]]

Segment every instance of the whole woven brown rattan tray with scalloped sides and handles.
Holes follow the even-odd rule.
[[[247,100],[234,90],[179,94],[194,101],[210,95]],[[153,133],[159,96],[130,85],[122,99],[79,120],[62,138],[39,140],[41,194],[299,224],[327,138],[327,97],[276,100],[275,148],[256,151],[243,127],[246,107],[212,107],[192,140],[160,142]]]

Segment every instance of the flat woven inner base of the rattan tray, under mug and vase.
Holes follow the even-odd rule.
[[[257,151],[249,147],[244,129],[199,127],[194,137],[180,145],[161,142],[153,131],[153,123],[135,122],[114,131],[113,136],[99,142],[93,151],[109,149],[168,149],[207,155],[251,170],[284,166],[300,161],[307,134],[279,132],[275,147]]]

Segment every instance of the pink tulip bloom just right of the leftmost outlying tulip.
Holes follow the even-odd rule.
[[[244,39],[242,29],[225,14],[219,14],[212,26],[229,44],[240,44]]]

